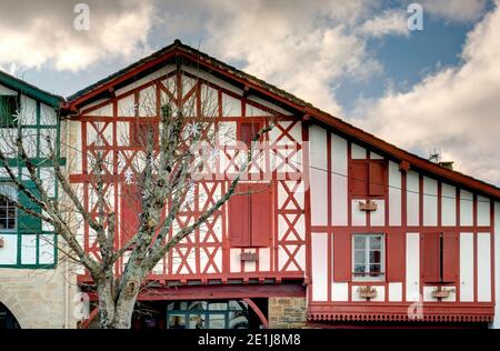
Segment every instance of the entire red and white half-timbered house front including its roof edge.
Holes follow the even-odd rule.
[[[172,63],[179,57],[183,63]],[[162,101],[180,104],[207,94],[217,101],[219,157],[173,231],[224,193],[237,172],[234,140],[244,139],[249,126],[276,119],[239,185],[266,190],[232,198],[169,252],[148,278],[158,288],[140,300],[303,297],[309,321],[327,324],[492,322],[500,314],[498,188],[397,149],[180,43],[70,98],[70,138],[81,150],[71,180],[84,205],[97,211],[88,157],[106,152],[109,210],[120,218],[117,245],[133,224],[134,208],[123,202],[128,169],[141,152],[130,142],[133,124],[158,121]],[[381,238],[378,274],[353,273],[357,235]],[[81,239],[97,255],[88,225]],[[82,273],[79,280],[90,278]],[[359,287],[376,293],[363,298]],[[448,297],[434,298],[438,287]]]

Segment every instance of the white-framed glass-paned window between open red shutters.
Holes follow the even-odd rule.
[[[384,279],[384,235],[356,234],[353,241],[353,280]]]

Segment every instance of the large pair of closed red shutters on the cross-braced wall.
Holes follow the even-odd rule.
[[[231,247],[269,247],[273,228],[272,187],[269,183],[239,183],[234,193],[229,200]]]

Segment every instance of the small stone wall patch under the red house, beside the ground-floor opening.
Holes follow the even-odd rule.
[[[306,327],[306,298],[269,298],[270,329],[300,329]]]

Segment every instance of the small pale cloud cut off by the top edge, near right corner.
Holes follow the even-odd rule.
[[[486,0],[421,0],[423,11],[450,21],[469,22],[483,12]]]

